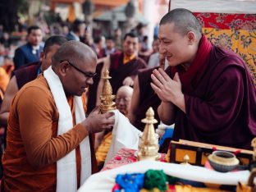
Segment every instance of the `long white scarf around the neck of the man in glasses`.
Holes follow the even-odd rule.
[[[62,135],[73,127],[73,118],[71,107],[67,103],[66,95],[62,87],[62,82],[55,74],[52,66],[48,70],[43,71],[43,76],[47,80],[48,85],[53,94],[53,98],[59,112],[59,120],[57,126],[57,135]],[[80,97],[74,97],[75,104],[75,123],[78,124],[85,120],[85,111]],[[91,153],[89,148],[89,136],[80,143],[81,155],[81,174],[80,185],[91,175]],[[57,161],[57,192],[77,190],[76,177],[76,161],[75,149],[68,153],[64,158]]]

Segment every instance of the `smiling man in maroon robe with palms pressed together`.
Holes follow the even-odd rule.
[[[162,100],[160,119],[175,123],[173,139],[250,149],[256,135],[256,89],[245,62],[209,43],[185,9],[162,17],[158,39],[171,77],[154,70],[151,85]]]

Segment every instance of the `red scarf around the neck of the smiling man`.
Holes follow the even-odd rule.
[[[199,83],[205,69],[207,68],[208,59],[213,45],[203,34],[202,39],[199,42],[199,50],[196,53],[194,62],[192,62],[188,71],[184,71],[181,65],[171,67],[171,75],[174,76],[176,71],[179,72],[182,90],[186,93],[193,91],[193,87]]]

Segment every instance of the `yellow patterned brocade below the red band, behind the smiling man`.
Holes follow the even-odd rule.
[[[203,34],[219,47],[233,50],[245,61],[256,84],[256,36],[249,30],[203,28]]]

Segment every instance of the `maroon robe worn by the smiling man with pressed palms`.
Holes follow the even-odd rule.
[[[176,108],[173,139],[251,149],[256,135],[254,81],[235,53],[213,46],[209,56],[203,73],[183,89],[186,114]]]

